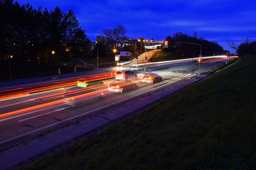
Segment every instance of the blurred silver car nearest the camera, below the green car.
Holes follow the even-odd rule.
[[[84,88],[84,87],[73,87],[68,90],[63,94],[63,103],[67,105],[82,105],[83,102],[85,101],[85,97],[92,98],[92,96],[95,95],[96,90],[91,89],[91,88]]]

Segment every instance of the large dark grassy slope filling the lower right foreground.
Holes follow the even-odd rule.
[[[256,56],[29,169],[254,169]]]

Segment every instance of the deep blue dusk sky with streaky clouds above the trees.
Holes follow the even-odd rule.
[[[255,0],[18,0],[49,10],[72,9],[90,40],[103,29],[123,25],[131,38],[164,40],[183,32],[215,41],[229,49],[227,41],[241,36],[256,40]]]

